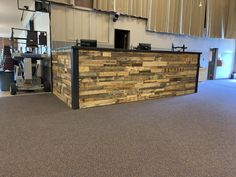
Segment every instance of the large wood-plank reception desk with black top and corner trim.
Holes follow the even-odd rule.
[[[197,92],[201,53],[108,48],[58,49],[53,93],[73,109]]]

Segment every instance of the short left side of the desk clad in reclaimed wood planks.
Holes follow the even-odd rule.
[[[71,52],[52,53],[53,94],[72,107]]]

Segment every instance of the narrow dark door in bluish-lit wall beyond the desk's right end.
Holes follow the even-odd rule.
[[[207,75],[208,80],[214,80],[216,77],[217,56],[218,56],[218,49],[217,48],[210,49],[208,75]]]

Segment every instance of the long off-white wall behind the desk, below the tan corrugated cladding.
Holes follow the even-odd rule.
[[[130,31],[131,48],[137,46],[141,42],[151,43],[152,48],[156,50],[171,50],[172,43],[174,43],[175,46],[182,46],[185,44],[188,47],[187,51],[202,52],[201,66],[206,68],[208,67],[209,62],[210,48],[218,48],[219,57],[224,60],[224,66],[217,68],[216,78],[228,78],[233,72],[236,45],[236,41],[233,39],[210,39],[148,32],[146,31],[147,21],[144,19],[121,16],[117,22],[114,23],[112,21],[112,15],[94,11],[82,12],[81,10],[76,9],[73,10],[73,12],[65,10],[65,12],[62,13],[63,10],[60,8],[52,12],[55,12],[52,14],[52,17],[54,17],[52,18],[53,41],[73,42],[76,39],[86,37],[88,39],[97,39],[99,42],[98,46],[100,47],[114,47],[115,29],[124,29]],[[88,13],[89,16],[83,16],[81,19],[81,17],[75,15],[75,13]],[[98,14],[101,14],[103,18],[99,17]],[[93,18],[96,19],[95,21],[99,25],[91,25],[94,24],[94,22],[91,22],[91,19]],[[75,19],[77,19],[76,22]],[[66,24],[68,21],[70,21],[70,24]],[[78,31],[75,30],[74,25],[84,26],[84,28],[80,28],[80,31]],[[100,33],[96,33],[97,35],[83,35],[89,31],[100,31]]]

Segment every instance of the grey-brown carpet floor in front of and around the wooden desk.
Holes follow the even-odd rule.
[[[1,177],[235,177],[236,82],[73,111],[53,95],[0,98]]]

